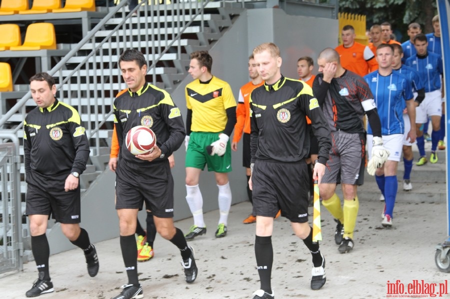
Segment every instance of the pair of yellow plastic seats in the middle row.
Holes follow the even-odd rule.
[[[32,51],[56,49],[56,34],[52,23],[32,23],[26,28],[22,44],[17,24],[0,24],[0,51]]]

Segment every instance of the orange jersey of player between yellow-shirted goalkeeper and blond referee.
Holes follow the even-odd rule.
[[[253,89],[261,86],[263,83],[264,81],[254,85],[250,81],[240,88],[236,108],[237,122],[234,125],[233,142],[239,142],[240,137],[242,137],[242,131],[250,134],[250,103],[248,100]]]

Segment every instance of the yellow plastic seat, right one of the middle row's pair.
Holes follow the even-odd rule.
[[[56,49],[56,34],[52,23],[32,23],[26,28],[25,40],[21,46],[9,48],[11,51],[32,51]]]

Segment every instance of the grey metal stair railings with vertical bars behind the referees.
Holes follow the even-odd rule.
[[[195,22],[198,32],[204,30],[203,11],[208,2],[151,5],[142,1],[128,11],[127,1],[121,1],[110,7],[109,13],[48,72],[57,78],[59,98],[81,115],[93,149],[91,154],[97,155],[104,144],[100,132],[111,129],[112,102],[117,92],[125,87],[117,64],[120,53],[131,47],[142,51],[148,61],[149,81],[161,85],[158,78],[164,70],[180,71],[171,63],[182,55],[181,37],[187,28]],[[117,15],[121,18],[114,18]],[[18,124],[12,132],[18,134],[23,128],[30,95],[26,93],[0,118],[0,127],[13,121]]]

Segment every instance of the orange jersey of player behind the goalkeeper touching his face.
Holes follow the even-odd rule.
[[[373,52],[368,46],[359,42],[355,41],[353,45],[348,48],[341,44],[337,46],[335,50],[339,53],[340,64],[342,67],[361,77],[378,68]]]

